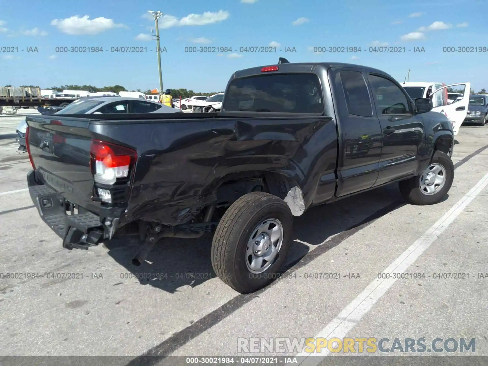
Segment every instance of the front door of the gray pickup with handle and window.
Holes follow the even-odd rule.
[[[381,123],[383,147],[375,185],[411,176],[418,170],[418,148],[424,139],[424,122],[396,81],[368,74],[376,113]]]

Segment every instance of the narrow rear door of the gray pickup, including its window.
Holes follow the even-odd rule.
[[[333,81],[339,131],[336,196],[371,188],[379,172],[381,126],[374,113],[364,73],[333,67]]]

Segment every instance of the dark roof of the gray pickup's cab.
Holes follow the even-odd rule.
[[[252,75],[262,75],[261,69],[263,67],[268,67],[268,66],[278,66],[279,69],[278,71],[271,71],[270,73],[289,73],[289,72],[312,72],[316,67],[322,67],[325,70],[328,70],[331,67],[351,67],[351,68],[356,68],[356,69],[366,69],[370,72],[374,72],[377,74],[382,74],[389,76],[390,75],[386,74],[386,72],[375,69],[373,67],[369,66],[364,66],[364,65],[357,65],[354,63],[344,63],[344,62],[287,62],[287,63],[276,63],[276,64],[271,64],[271,65],[263,65],[259,67],[251,67],[248,69],[244,70],[239,70],[236,71],[231,79],[235,78],[242,78],[246,76],[252,76]]]

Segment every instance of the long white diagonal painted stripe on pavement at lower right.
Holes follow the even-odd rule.
[[[424,235],[417,239],[410,247],[404,251],[383,273],[404,273],[422,253],[434,243],[435,240],[452,224],[461,212],[474,200],[474,198],[488,185],[488,174],[485,175],[471,190],[461,198],[443,217],[433,224]],[[349,305],[347,305],[337,317],[322,329],[316,338],[343,339],[347,333],[358,324],[366,313],[375,305],[386,291],[396,282],[396,279],[375,279],[366,289],[358,295]],[[300,365],[312,366],[319,365],[325,356],[330,354],[328,348],[324,348],[320,353],[308,353],[302,351],[297,356],[306,357]]]

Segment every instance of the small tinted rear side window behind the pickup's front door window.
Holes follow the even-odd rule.
[[[371,117],[373,108],[363,74],[359,71],[341,71],[339,74],[349,114]]]

